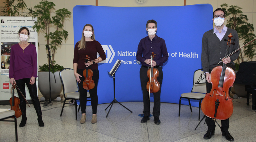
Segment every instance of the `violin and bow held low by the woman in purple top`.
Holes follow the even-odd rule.
[[[15,111],[15,116],[16,118],[19,118],[21,116],[21,109],[19,108],[19,104],[20,104],[20,99],[16,96],[14,96],[14,89],[15,87],[17,88],[17,90],[21,93],[20,89],[18,88],[18,86],[14,83],[14,85],[12,86],[12,92],[13,92],[13,96],[12,98],[10,98],[9,102],[11,105],[11,110]],[[23,98],[25,99],[24,95],[21,93],[21,95],[23,96]],[[28,106],[30,107],[28,101],[25,99],[26,103],[28,104]],[[14,118],[14,117],[12,117]]]

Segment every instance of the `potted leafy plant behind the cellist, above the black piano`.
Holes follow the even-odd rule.
[[[254,32],[253,24],[247,22],[248,21],[247,15],[242,14],[243,12],[240,10],[242,9],[241,7],[236,5],[228,6],[228,4],[222,4],[221,7],[226,13],[225,15],[227,19],[226,27],[236,30],[239,36],[239,40],[243,41],[243,44],[248,43],[249,41],[253,40],[256,37],[255,34],[253,33]],[[241,62],[252,61],[252,58],[255,57],[256,55],[255,47],[256,47],[256,42],[253,41],[249,45],[240,49],[240,55],[235,63],[235,66],[236,66],[235,73],[239,69],[239,65]],[[233,93],[233,94],[231,93],[231,96],[235,99],[237,97],[245,97],[247,95],[244,84],[234,83],[233,87],[231,88],[231,91]]]

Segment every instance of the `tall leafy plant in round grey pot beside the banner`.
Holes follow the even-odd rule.
[[[38,5],[34,6],[34,12],[32,17],[37,17],[37,22],[33,26],[33,30],[42,31],[45,34],[46,45],[51,49],[52,63],[50,63],[51,75],[51,99],[56,99],[62,91],[62,84],[59,76],[59,71],[64,69],[63,66],[55,64],[54,55],[58,47],[62,45],[63,38],[66,40],[68,37],[68,32],[63,29],[64,21],[66,18],[70,18],[71,12],[66,8],[59,9],[55,11],[55,16],[51,17],[51,11],[54,10],[55,4],[53,2],[48,2],[47,0],[42,0]],[[50,31],[50,27],[53,27],[55,31]],[[52,29],[52,28],[51,28]],[[47,49],[47,48],[46,48]],[[38,88],[40,92],[46,99],[49,99],[49,73],[44,71],[49,71],[49,65],[44,64],[39,66],[38,72]],[[54,81],[53,72],[56,78],[56,83]]]

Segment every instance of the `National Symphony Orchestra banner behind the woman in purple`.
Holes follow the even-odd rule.
[[[30,34],[28,42],[34,44],[36,47],[36,53],[38,42],[37,32],[33,31],[32,26],[37,18],[32,17],[0,17],[0,41],[1,41],[1,80],[0,80],[0,101],[9,100],[12,97],[11,84],[9,83],[9,66],[12,46],[20,42],[19,40],[19,29],[22,27],[28,28]],[[36,84],[37,79],[36,79]],[[25,88],[26,94],[29,94],[28,88]],[[15,90],[15,96],[18,96]],[[30,95],[26,95],[27,100],[31,100]]]

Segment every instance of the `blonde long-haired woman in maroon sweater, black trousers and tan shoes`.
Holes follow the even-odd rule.
[[[99,53],[100,57],[97,58],[97,53]],[[84,63],[84,59],[88,55],[90,57],[89,63]],[[93,72],[92,80],[94,81],[94,88],[89,90],[91,97],[91,107],[92,107],[92,120],[91,123],[97,122],[97,106],[98,106],[98,94],[97,87],[99,81],[99,70],[98,63],[106,59],[105,51],[103,50],[100,42],[95,40],[94,30],[91,24],[86,24],[82,31],[82,38],[75,45],[74,51],[74,59],[73,59],[73,67],[74,67],[74,75],[76,76],[76,80],[78,82],[79,93],[80,93],[80,106],[82,111],[82,118],[80,123],[85,123],[86,114],[86,97],[87,90],[83,88],[83,70],[85,67],[91,66],[91,70]]]

